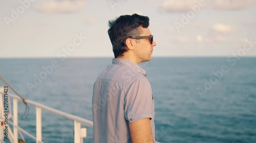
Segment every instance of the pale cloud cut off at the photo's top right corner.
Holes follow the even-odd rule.
[[[214,9],[240,10],[251,6],[254,0],[215,0]]]

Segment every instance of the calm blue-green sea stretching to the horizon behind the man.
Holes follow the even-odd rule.
[[[25,99],[92,121],[93,84],[110,64],[112,58],[0,59],[0,76]],[[140,66],[154,95],[157,141],[256,142],[255,57],[153,57]],[[22,117],[25,109],[18,102],[18,125],[35,136],[35,107]],[[86,128],[83,142],[91,143],[93,129]],[[73,121],[42,110],[42,141],[74,142],[73,131]]]

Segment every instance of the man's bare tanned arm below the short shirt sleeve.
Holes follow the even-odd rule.
[[[129,124],[133,143],[154,143],[150,118],[144,118]]]

